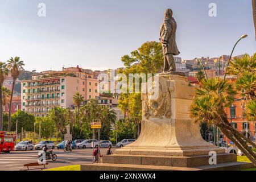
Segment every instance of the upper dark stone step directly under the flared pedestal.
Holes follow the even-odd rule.
[[[209,165],[209,155],[195,156],[153,156],[153,155],[104,155],[103,163],[135,164],[147,166],[194,167]],[[217,154],[217,164],[237,162],[236,154]]]

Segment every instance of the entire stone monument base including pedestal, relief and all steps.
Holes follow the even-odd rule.
[[[244,169],[250,163],[236,162],[236,155],[205,142],[199,125],[189,118],[195,87],[187,77],[159,75],[159,97],[142,95],[142,129],[139,138],[114,155],[103,156],[103,163],[82,165],[81,170],[224,170]],[[215,151],[217,165],[209,165],[209,152]]]

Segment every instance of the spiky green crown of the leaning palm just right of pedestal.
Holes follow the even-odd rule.
[[[216,117],[234,101],[236,91],[231,82],[222,78],[203,79],[201,88],[196,89],[196,96],[191,105],[191,117],[195,122],[216,124]]]

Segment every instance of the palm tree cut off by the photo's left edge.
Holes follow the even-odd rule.
[[[2,85],[5,77],[8,75],[6,64],[0,62],[0,131],[3,130],[3,99],[2,99]]]

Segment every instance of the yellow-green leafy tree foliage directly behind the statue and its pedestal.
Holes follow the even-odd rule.
[[[159,73],[163,68],[162,46],[159,42],[146,42],[137,50],[122,57],[125,69],[119,71],[126,76],[129,73]],[[133,85],[134,86],[134,85]],[[140,85],[141,88],[141,85]],[[128,115],[129,118],[141,121],[141,94],[122,93],[118,100],[118,107]]]

